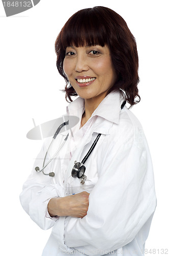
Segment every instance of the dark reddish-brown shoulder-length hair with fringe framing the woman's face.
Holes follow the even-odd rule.
[[[62,28],[55,41],[55,52],[58,71],[66,80],[63,91],[66,92],[67,101],[72,101],[71,96],[77,95],[63,70],[65,51],[71,45],[107,45],[117,74],[117,80],[107,94],[121,89],[130,106],[140,101],[136,42],[125,20],[118,13],[101,6],[83,9],[73,14]]]

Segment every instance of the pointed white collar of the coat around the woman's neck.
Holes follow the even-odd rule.
[[[121,104],[124,100],[124,93],[121,90],[110,92],[98,105],[91,118],[93,116],[100,116],[111,123],[118,124]],[[84,105],[85,100],[78,97],[67,106],[67,115],[76,115],[81,120]]]

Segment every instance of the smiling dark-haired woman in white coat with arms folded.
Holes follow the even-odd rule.
[[[68,105],[67,115],[79,122],[46,166],[45,173],[54,172],[54,177],[35,172],[42,166],[47,140],[20,195],[33,221],[42,229],[52,227],[42,255],[144,255],[156,196],[142,126],[124,106],[140,100],[135,39],[120,15],[94,7],[70,17],[55,51],[66,98],[79,96]],[[58,135],[53,152],[66,135]],[[85,176],[73,178],[73,166],[96,137]]]

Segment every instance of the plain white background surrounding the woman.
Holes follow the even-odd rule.
[[[11,17],[5,16],[0,3],[1,255],[39,256],[49,237],[50,230],[41,230],[19,202],[22,184],[42,145],[27,139],[26,133],[34,127],[32,118],[38,125],[65,113],[68,103],[59,91],[65,81],[55,65],[54,41],[74,12],[94,6],[118,12],[137,41],[142,101],[131,111],[142,123],[150,146],[158,203],[146,248],[156,249],[156,255],[168,249],[169,254],[167,2],[41,0]]]

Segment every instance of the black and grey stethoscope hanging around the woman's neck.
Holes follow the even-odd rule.
[[[121,109],[124,108],[126,104],[126,100],[122,103],[121,105]],[[55,132],[53,138],[52,138],[52,141],[58,136],[58,134],[60,133],[61,129],[63,128],[63,126],[65,125],[68,125],[69,124],[69,120],[67,122],[63,122],[57,129],[57,131]],[[40,169],[38,166],[35,167],[35,170],[36,172],[42,172],[44,175],[49,175],[50,177],[54,177],[54,173],[51,172],[51,173],[44,173],[44,168],[46,168],[46,166],[52,161],[52,159],[58,154],[58,152],[61,150],[62,146],[65,144],[67,138],[68,138],[69,134],[67,134],[66,138],[64,139],[63,143],[61,144],[61,146],[58,148],[58,151],[55,152],[55,154],[52,156],[52,158],[45,164],[45,160],[46,160],[46,156],[47,156],[47,152],[49,150],[49,147],[52,143],[52,141],[50,142],[49,146],[48,146],[48,149],[46,151],[46,154],[45,154],[45,157],[44,157],[44,161],[43,161],[43,166],[42,166],[42,169]],[[74,162],[74,166],[72,168],[72,177],[73,178],[78,178],[80,179],[80,183],[81,184],[84,184],[85,183],[85,180],[87,179],[86,175],[85,175],[85,170],[86,170],[86,167],[85,167],[85,162],[87,161],[87,159],[89,158],[89,156],[91,155],[92,151],[94,150],[99,138],[100,138],[101,134],[99,133],[95,139],[95,141],[93,142],[92,146],[90,147],[90,150],[88,151],[88,153],[86,154],[86,156],[83,158],[83,160],[81,162]],[[45,165],[44,165],[45,164]]]

